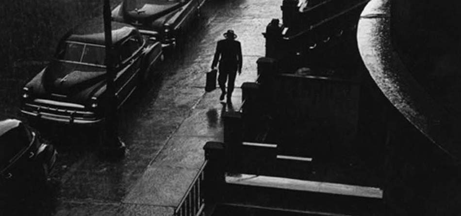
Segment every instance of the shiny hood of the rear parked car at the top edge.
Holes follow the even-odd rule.
[[[123,16],[128,22],[153,21],[181,7],[180,2],[166,0],[124,0]]]

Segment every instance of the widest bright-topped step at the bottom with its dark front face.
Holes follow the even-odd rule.
[[[238,174],[226,176],[223,193],[224,204],[262,212],[331,216],[383,212],[383,191],[376,187]]]

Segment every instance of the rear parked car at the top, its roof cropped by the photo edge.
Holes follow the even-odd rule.
[[[112,11],[112,18],[131,24],[142,34],[157,38],[164,47],[176,45],[188,31],[205,0],[123,0]]]

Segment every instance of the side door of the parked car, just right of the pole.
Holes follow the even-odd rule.
[[[118,49],[120,63],[115,78],[115,95],[120,107],[137,87],[141,69],[142,41],[137,35],[128,37]]]

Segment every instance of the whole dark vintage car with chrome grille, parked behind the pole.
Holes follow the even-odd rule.
[[[163,60],[162,45],[131,25],[112,22],[116,106]],[[60,41],[54,59],[23,88],[21,112],[35,120],[99,125],[108,106],[104,28],[93,20]]]

